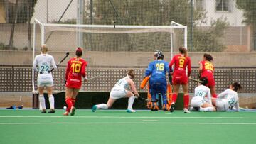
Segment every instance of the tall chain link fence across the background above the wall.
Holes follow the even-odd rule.
[[[37,18],[43,23],[80,21],[80,24],[94,25],[115,22],[116,25],[169,26],[171,21],[176,21],[188,26],[188,50],[191,52],[251,52],[255,50],[256,39],[255,3],[253,0],[1,0],[0,50],[31,50],[31,24]],[[50,40],[73,43],[77,40],[75,37],[73,33],[56,33],[49,38],[49,43]],[[114,37],[121,41],[129,39]],[[102,37],[97,38],[97,34],[85,35],[82,43],[87,50],[105,51],[107,38],[99,41]],[[135,40],[134,44],[139,43]],[[143,51],[154,49],[149,47]],[[131,51],[131,48],[123,51]]]

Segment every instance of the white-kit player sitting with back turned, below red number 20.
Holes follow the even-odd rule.
[[[195,95],[191,99],[192,111],[216,111],[211,101],[210,89],[206,87],[207,79],[202,77],[201,84],[195,88]]]

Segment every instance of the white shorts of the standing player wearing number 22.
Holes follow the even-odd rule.
[[[53,76],[52,74],[38,74],[38,87],[52,87]]]

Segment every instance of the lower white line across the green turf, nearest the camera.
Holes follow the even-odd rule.
[[[141,123],[124,123],[124,122],[117,122],[117,123],[68,123],[68,122],[52,122],[52,123],[0,123],[0,125],[52,125],[52,124],[187,124],[187,125],[256,125],[256,123],[160,123],[160,122],[141,122]]]

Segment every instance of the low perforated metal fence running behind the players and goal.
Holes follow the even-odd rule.
[[[80,91],[85,92],[110,92],[118,79],[125,77],[127,70],[131,67],[88,67],[87,77],[95,77],[103,73],[102,77],[92,79],[82,84]],[[136,77],[134,82],[139,92],[146,92],[146,89],[139,89],[139,84],[144,77],[146,67],[133,67]],[[32,72],[28,65],[0,65],[0,91],[1,92],[31,92]],[[196,78],[198,67],[192,68],[191,77]],[[59,67],[53,71],[55,91],[64,91],[65,67]],[[242,84],[243,93],[256,93],[256,67],[215,67],[215,82],[217,92],[222,92],[232,82]],[[35,79],[36,84],[36,79]],[[197,83],[189,82],[189,92]]]

